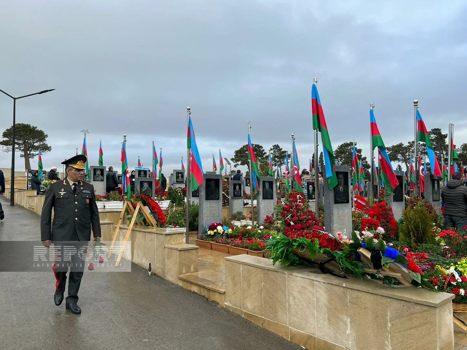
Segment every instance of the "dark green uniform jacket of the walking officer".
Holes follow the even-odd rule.
[[[78,181],[76,194],[66,177],[50,184],[42,207],[41,240],[89,241],[91,227],[94,237],[100,237],[99,211],[92,184]]]

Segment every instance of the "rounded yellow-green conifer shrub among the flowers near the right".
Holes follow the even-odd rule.
[[[410,206],[403,211],[404,223],[399,232],[401,242],[433,243],[433,214],[427,212],[424,203],[418,202],[413,208]]]

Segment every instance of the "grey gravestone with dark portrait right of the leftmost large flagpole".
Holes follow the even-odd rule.
[[[222,222],[222,175],[206,172],[199,186],[198,233],[205,234],[206,226]]]

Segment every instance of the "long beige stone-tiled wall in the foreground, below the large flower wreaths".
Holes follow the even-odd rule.
[[[226,258],[226,308],[307,349],[452,350],[453,294]]]

